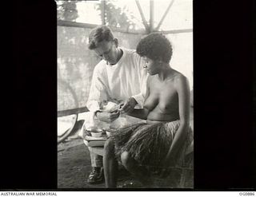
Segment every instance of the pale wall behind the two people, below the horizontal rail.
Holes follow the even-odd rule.
[[[94,66],[100,59],[87,49],[90,29],[58,26],[58,111],[86,106]],[[114,32],[119,45],[136,49],[141,34]],[[174,53],[170,65],[193,87],[193,33],[168,34]]]

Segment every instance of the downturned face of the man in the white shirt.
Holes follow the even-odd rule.
[[[114,41],[101,41],[98,43],[98,47],[94,49],[94,52],[102,57],[108,64],[114,65],[117,63],[118,52],[117,46]]]

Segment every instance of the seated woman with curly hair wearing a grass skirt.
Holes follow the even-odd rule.
[[[137,53],[150,74],[144,108],[129,116],[146,120],[114,132],[104,147],[106,187],[116,187],[118,160],[146,187],[150,169],[182,165],[190,139],[190,87],[185,76],[170,67],[172,46],[161,33],[150,33],[138,43]],[[122,109],[121,109],[122,110]]]

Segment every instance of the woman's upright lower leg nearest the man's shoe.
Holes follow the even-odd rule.
[[[114,155],[114,140],[109,138],[104,145],[103,167],[107,188],[117,187],[118,161]]]

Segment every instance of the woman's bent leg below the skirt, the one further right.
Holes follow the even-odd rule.
[[[146,167],[139,166],[136,160],[130,156],[129,152],[122,152],[121,161],[126,170],[130,171],[138,181],[145,186],[152,186],[149,171],[146,170]]]

